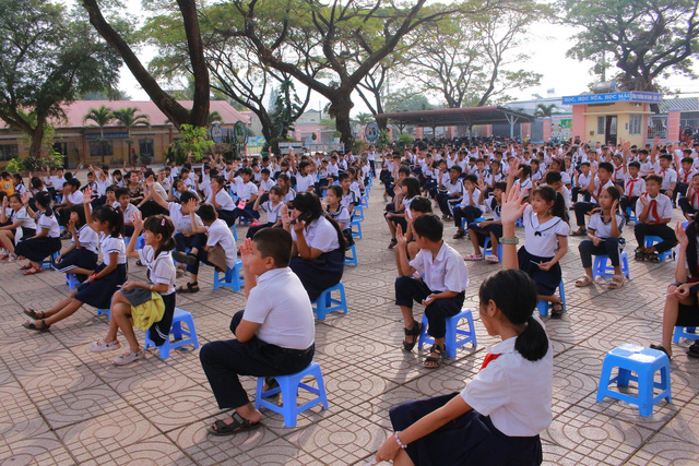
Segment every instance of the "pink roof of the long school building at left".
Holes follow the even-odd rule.
[[[192,108],[192,100],[178,100],[183,107]],[[147,115],[151,126],[166,124],[167,117],[163,113],[151,100],[76,100],[69,106],[63,107],[68,123],[66,121],[58,121],[56,124],[59,128],[82,128],[83,118],[91,108],[99,108],[106,106],[112,110],[126,107],[135,107],[139,109],[139,115]],[[234,124],[236,121],[244,121],[248,123],[249,117],[241,115],[238,110],[233,108],[230,104],[225,100],[211,100],[210,111],[217,111],[223,118],[224,124]],[[0,121],[0,128],[4,127],[3,121]],[[86,124],[92,124],[87,122]],[[111,123],[110,127],[117,127],[118,124]]]

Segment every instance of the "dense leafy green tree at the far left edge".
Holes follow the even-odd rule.
[[[43,0],[0,0],[0,119],[38,157],[50,120],[88,92],[116,86],[121,61],[81,12]]]

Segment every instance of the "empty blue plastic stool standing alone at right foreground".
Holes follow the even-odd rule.
[[[615,367],[619,368],[619,373],[617,377],[612,378],[612,369]],[[655,372],[659,370],[661,382],[655,382]],[[632,372],[637,375],[631,375]],[[630,381],[638,382],[638,396],[609,390],[609,384],[614,382],[616,382],[617,386],[628,386]],[[654,389],[662,391],[660,395],[653,396]],[[653,405],[662,399],[667,399],[667,403],[672,403],[670,359],[667,355],[656,349],[628,343],[608,351],[602,365],[597,402],[604,401],[605,396],[638,406],[641,416],[652,416]]]

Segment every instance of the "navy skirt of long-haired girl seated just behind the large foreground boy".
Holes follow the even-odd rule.
[[[294,258],[289,267],[301,280],[310,300],[315,301],[321,292],[337,285],[342,279],[345,254],[336,249],[324,252],[313,260]]]

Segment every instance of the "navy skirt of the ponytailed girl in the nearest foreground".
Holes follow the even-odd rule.
[[[418,419],[441,408],[458,393],[417,402],[405,402],[390,410],[393,430],[405,430]],[[417,466],[542,464],[538,435],[508,437],[487,416],[472,409],[433,433],[407,445],[405,452]]]

